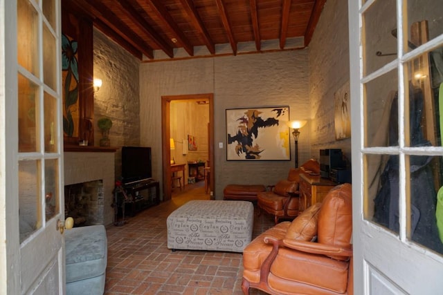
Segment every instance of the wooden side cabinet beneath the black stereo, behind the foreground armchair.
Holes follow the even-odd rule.
[[[323,202],[327,193],[337,185],[327,178],[321,178],[320,175],[300,174],[299,191],[300,202],[298,211],[300,213],[317,202]]]

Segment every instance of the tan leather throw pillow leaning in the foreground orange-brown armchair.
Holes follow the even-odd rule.
[[[321,203],[316,203],[303,211],[291,222],[285,238],[312,240],[317,234],[317,216]]]

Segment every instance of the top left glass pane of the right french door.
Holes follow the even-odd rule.
[[[397,58],[395,0],[377,0],[363,14],[363,75]]]

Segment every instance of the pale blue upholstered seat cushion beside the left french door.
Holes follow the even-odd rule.
[[[66,283],[102,276],[107,265],[107,237],[103,225],[65,231]]]

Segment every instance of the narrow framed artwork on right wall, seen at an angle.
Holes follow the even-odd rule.
[[[335,139],[344,140],[351,137],[351,100],[350,84],[347,81],[334,93]]]

